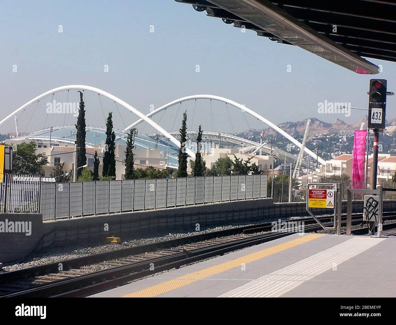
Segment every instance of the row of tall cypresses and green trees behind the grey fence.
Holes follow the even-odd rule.
[[[86,117],[85,117],[85,103],[84,94],[79,91],[80,103],[78,117],[75,124],[76,127],[76,144],[77,144],[77,166],[81,167],[87,164],[86,152]],[[234,155],[234,160],[228,157],[219,158],[210,168],[206,167],[205,160],[201,153],[202,142],[202,128],[198,129],[198,136],[196,138],[197,151],[195,160],[190,160],[190,167],[192,172],[187,173],[187,112],[183,113],[183,120],[181,128],[179,129],[181,146],[178,153],[179,167],[176,171],[167,167],[166,169],[156,169],[154,167],[135,168],[133,148],[133,134],[135,129],[129,130],[126,151],[125,151],[125,179],[151,179],[151,178],[165,178],[165,177],[188,177],[188,176],[223,176],[223,175],[247,175],[259,174],[259,166],[251,163],[251,158],[243,160]],[[116,178],[116,157],[115,157],[115,139],[114,126],[112,121],[112,112],[109,112],[106,121],[106,141],[103,155],[102,175],[99,175],[100,160],[97,150],[93,155],[93,171],[87,168],[77,169],[77,181],[98,181],[98,180],[112,180]],[[34,141],[29,143],[22,142],[17,144],[13,156],[13,172],[21,174],[40,174],[42,167],[48,164],[48,158],[44,153],[36,153],[37,144]],[[167,157],[169,159],[169,157]],[[51,177],[56,177],[57,182],[68,182],[72,178],[73,171],[66,176],[63,171],[64,163],[57,163]]]

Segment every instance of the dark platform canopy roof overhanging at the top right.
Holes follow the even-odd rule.
[[[299,46],[356,73],[379,72],[362,57],[396,62],[396,1],[175,1],[272,41]]]

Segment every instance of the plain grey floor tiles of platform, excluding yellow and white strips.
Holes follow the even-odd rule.
[[[92,297],[120,297],[295,238],[298,238],[297,234],[136,281],[129,285],[95,294]],[[206,279],[199,279],[194,283],[166,292],[158,297],[216,297],[263,275],[345,242],[350,238],[349,236],[325,235],[260,260],[247,263],[246,270],[236,267]],[[394,252],[396,252],[396,238],[388,238],[362,254],[337,265],[337,271],[326,271],[309,281],[305,281],[282,296],[396,296],[396,256]]]

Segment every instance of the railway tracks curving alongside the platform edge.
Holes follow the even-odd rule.
[[[384,219],[392,217],[394,218],[394,213]],[[343,219],[345,218],[346,216]],[[326,225],[332,225],[331,217],[321,217],[320,219]],[[322,229],[312,218],[296,219],[295,221],[304,221],[305,232]],[[353,215],[352,224],[360,223],[362,223],[362,216]],[[178,268],[188,263],[282,238],[293,233],[273,232],[272,224],[266,223],[124,248],[1,273],[0,297],[88,296],[147,275]]]

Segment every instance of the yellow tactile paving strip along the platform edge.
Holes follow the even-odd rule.
[[[152,287],[148,287],[148,288],[136,291],[136,292],[126,294],[125,296],[122,296],[122,298],[144,298],[144,297],[148,298],[148,297],[158,296],[160,294],[169,292],[171,290],[175,290],[175,289],[183,287],[185,285],[189,285],[190,283],[194,283],[194,282],[198,281],[199,279],[205,279],[212,275],[219,274],[219,273],[228,271],[230,269],[233,269],[234,267],[240,267],[243,263],[246,264],[246,263],[250,263],[253,261],[257,261],[261,258],[270,256],[270,255],[278,253],[278,252],[282,252],[283,250],[287,250],[288,248],[298,246],[300,244],[309,242],[310,240],[313,240],[315,238],[319,238],[322,236],[324,236],[324,235],[323,234],[304,235],[299,238],[290,240],[288,242],[284,242],[282,244],[278,244],[276,246],[266,248],[266,249],[260,250],[258,252],[247,254],[245,256],[241,256],[239,258],[236,258],[235,260],[224,262],[224,263],[221,263],[218,265],[213,265],[206,269],[196,271],[196,272],[193,272],[190,274],[186,274],[186,275],[183,275],[176,279],[168,280],[163,283],[159,283],[158,285],[154,285]]]

